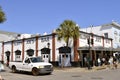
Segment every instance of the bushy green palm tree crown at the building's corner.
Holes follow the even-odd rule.
[[[65,41],[66,47],[69,46],[70,39],[73,39],[75,42],[80,36],[79,27],[72,20],[65,20],[62,24],[60,24],[59,28],[56,29],[56,33],[58,35],[58,40],[63,39]]]

